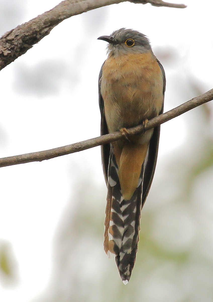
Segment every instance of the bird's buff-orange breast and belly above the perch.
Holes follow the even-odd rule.
[[[129,56],[128,61],[116,60],[116,64],[114,58],[105,62],[101,94],[109,132],[136,126],[161,111],[162,72],[156,60],[150,60],[149,56],[141,54],[136,60],[133,59],[135,56]],[[146,64],[146,59],[149,64]],[[140,60],[143,64],[139,64]]]

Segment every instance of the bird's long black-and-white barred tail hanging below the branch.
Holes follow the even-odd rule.
[[[115,254],[121,279],[127,284],[136,259],[139,241],[143,166],[139,186],[130,200],[124,200],[118,179],[118,168],[111,148],[108,169],[108,194],[105,217],[104,249]]]

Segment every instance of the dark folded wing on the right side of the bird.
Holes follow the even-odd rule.
[[[163,69],[163,66],[158,61],[157,62],[161,68],[162,75],[163,75],[163,103],[162,108],[160,111],[160,114],[163,113],[163,107],[164,107],[164,93],[165,93],[165,87],[166,87],[166,77],[165,72]],[[147,195],[149,193],[150,186],[152,184],[152,179],[155,172],[155,166],[157,162],[157,156],[158,156],[158,144],[159,144],[159,136],[160,136],[160,125],[154,128],[152,138],[149,142],[149,148],[148,148],[148,155],[145,162],[144,167],[144,178],[143,178],[143,194],[142,194],[142,207],[146,201]]]

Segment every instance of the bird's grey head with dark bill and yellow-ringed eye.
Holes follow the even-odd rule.
[[[110,36],[102,36],[98,38],[109,43],[108,53],[119,56],[129,53],[146,53],[151,50],[149,39],[132,29],[121,28],[114,31]]]

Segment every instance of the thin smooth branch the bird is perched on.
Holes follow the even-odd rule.
[[[168,120],[171,120],[174,117],[179,116],[180,114],[185,113],[186,111],[189,111],[199,105],[202,105],[208,101],[211,101],[213,99],[213,89],[205,92],[202,95],[197,96],[196,98],[192,98],[190,101],[187,101],[186,103],[164,113],[159,115],[158,117],[153,118],[152,120],[149,120],[147,123],[146,130],[149,130],[153,127],[156,127],[160,124],[163,124],[167,122]],[[143,125],[139,125],[137,127],[133,127],[131,129],[128,129],[128,133],[130,136],[141,133],[144,130]],[[103,135],[101,137],[92,138],[90,140],[85,140],[83,142],[45,150],[45,151],[39,151],[39,152],[33,152],[28,154],[22,154],[17,156],[10,156],[0,159],[0,167],[10,166],[10,165],[17,165],[17,164],[23,164],[26,162],[35,162],[35,161],[42,161],[44,159],[50,159],[57,156],[62,156],[70,153],[75,153],[78,151],[82,151],[85,149],[89,149],[95,146],[103,145],[105,143],[114,142],[116,140],[119,140],[122,138],[122,134],[120,131],[110,133]]]

